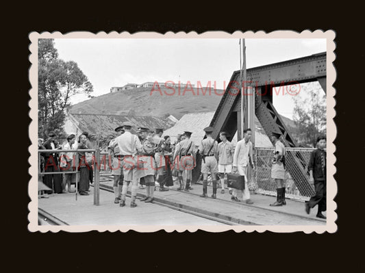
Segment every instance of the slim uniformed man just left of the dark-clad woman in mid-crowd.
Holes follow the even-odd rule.
[[[158,183],[160,185],[160,192],[168,191],[167,187],[164,187],[164,169],[166,168],[166,162],[164,157],[164,138],[162,138],[162,134],[164,133],[163,129],[155,129],[155,136],[153,137],[153,141],[155,142],[155,162],[157,166],[157,174],[158,174]]]

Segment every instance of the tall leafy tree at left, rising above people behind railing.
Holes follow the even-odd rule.
[[[89,94],[92,84],[76,62],[58,58],[53,39],[38,40],[38,135],[49,131],[64,135],[65,110],[71,96]]]

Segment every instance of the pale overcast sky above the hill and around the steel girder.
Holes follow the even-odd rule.
[[[205,86],[240,69],[238,39],[55,39],[60,59],[73,60],[94,86],[93,96],[113,86],[146,81],[190,81]],[[326,51],[325,39],[246,39],[247,68]],[[71,99],[75,104],[84,95]],[[278,112],[292,118],[292,96],[274,98]]]

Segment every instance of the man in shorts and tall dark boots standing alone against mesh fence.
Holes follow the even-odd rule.
[[[276,190],[277,190],[277,200],[275,203],[270,204],[272,207],[281,207],[282,205],[286,205],[285,200],[285,146],[282,142],[280,142],[279,138],[281,133],[273,132],[270,135],[270,140],[273,142],[274,149],[274,159],[273,165],[271,166],[271,178],[275,179]]]

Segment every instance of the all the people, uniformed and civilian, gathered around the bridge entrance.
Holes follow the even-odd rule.
[[[192,132],[185,131],[178,135],[177,141],[171,144],[171,138],[163,135],[163,129],[155,131],[138,127],[136,134],[131,133],[133,125],[125,122],[122,126],[116,127],[118,134],[108,145],[108,155],[111,159],[110,169],[114,176],[113,190],[114,203],[120,207],[126,205],[126,195],[131,187],[130,207],[137,207],[136,194],[138,185],[146,190],[145,203],[153,203],[156,185],[160,192],[168,191],[168,187],[174,185],[174,180],[178,181],[178,191],[189,192],[192,190],[191,179],[192,170],[197,166],[197,153],[201,157],[201,174],[203,180],[203,190],[200,195],[207,198],[208,177],[212,181],[212,198],[216,198],[218,182],[221,186],[221,194],[225,194],[228,185],[229,174],[238,174],[243,177],[242,187],[228,187],[231,200],[253,204],[248,187],[248,167],[255,170],[253,162],[253,144],[251,142],[251,129],[244,129],[242,140],[236,146],[227,139],[228,134],[224,131],[219,133],[221,142],[212,138],[214,128],[206,127],[205,136],[200,143],[192,142]],[[273,132],[270,139],[275,149],[273,151],[273,162],[271,168],[271,178],[275,181],[277,188],[277,200],[270,204],[273,207],[286,205],[286,185],[285,185],[285,157],[286,149],[279,140],[280,133]],[[310,213],[315,205],[318,205],[318,218],[325,218],[322,211],[326,210],[326,155],[325,137],[317,140],[318,148],[313,151],[308,170],[310,171],[310,181],[314,183],[316,195],[305,203],[305,211]],[[51,131],[49,138],[42,142],[38,140],[39,149],[56,150],[84,150],[92,149],[92,144],[88,140],[88,133],[79,135],[76,141],[74,134],[68,135],[67,143],[60,147],[55,140],[55,133]],[[79,183],[76,189],[80,195],[88,195],[90,183],[93,179],[92,153],[89,151],[79,151],[78,153],[41,153],[40,170],[51,172],[43,177],[43,182],[57,194],[75,192],[71,189],[71,183],[75,177],[75,172],[79,172]],[[64,171],[62,174],[57,173]],[[175,179],[174,179],[175,178]],[[67,190],[66,190],[67,185]],[[42,195],[45,196],[45,195]],[[47,197],[47,196],[45,196]]]

